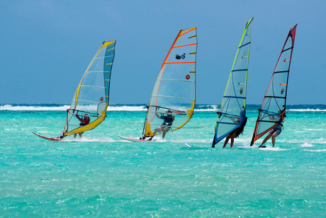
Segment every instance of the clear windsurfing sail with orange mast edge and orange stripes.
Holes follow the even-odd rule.
[[[193,116],[196,100],[196,27],[181,30],[167,53],[147,106],[142,136],[180,129]],[[167,116],[174,120],[167,121]],[[165,128],[159,128],[165,123]],[[159,128],[159,129],[157,129]]]

